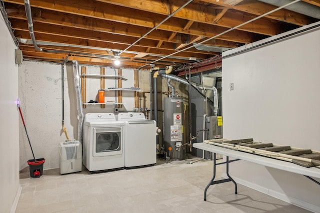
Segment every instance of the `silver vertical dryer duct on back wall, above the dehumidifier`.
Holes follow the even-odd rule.
[[[81,103],[81,87],[79,65],[77,61],[73,62],[74,89],[76,94],[76,109],[78,111],[78,137],[77,140],[82,144],[82,126],[83,126],[83,108]]]

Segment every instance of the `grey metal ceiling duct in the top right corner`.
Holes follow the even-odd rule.
[[[283,4],[290,3],[292,0],[259,0],[264,3],[272,4],[274,6],[282,6]],[[288,5],[285,9],[298,12],[313,18],[320,19],[320,7],[314,6],[312,4],[299,1],[294,4]]]

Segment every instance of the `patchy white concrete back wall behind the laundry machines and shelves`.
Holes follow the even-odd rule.
[[[19,67],[19,98],[26,128],[35,158],[45,158],[44,169],[59,167],[58,144],[66,140],[62,131],[62,90],[60,64],[23,61]],[[81,66],[79,66],[81,71]],[[100,68],[87,66],[86,73],[100,74]],[[114,71],[105,69],[105,74],[114,75]],[[122,75],[128,80],[122,87],[133,86],[133,70],[122,69]],[[105,87],[114,87],[114,79],[106,79]],[[95,100],[100,88],[99,78],[87,77],[86,101]],[[114,101],[114,91],[105,92],[105,101]],[[112,97],[108,97],[108,96]],[[126,104],[120,111],[132,111],[134,92],[122,92]],[[76,94],[72,65],[64,66],[64,126],[70,139],[77,139]],[[83,113],[113,112],[115,105],[87,105]],[[20,124],[20,170],[28,167],[27,160],[32,154],[22,124]]]

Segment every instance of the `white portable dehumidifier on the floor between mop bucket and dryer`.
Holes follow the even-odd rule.
[[[79,141],[67,140],[59,144],[60,174],[82,170],[82,146]]]

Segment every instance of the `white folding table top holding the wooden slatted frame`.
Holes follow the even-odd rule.
[[[241,159],[244,161],[249,161],[256,164],[261,164],[263,166],[267,166],[267,167],[271,167],[271,168],[275,168],[275,169],[279,169],[287,172],[297,173],[297,174],[301,174],[301,175],[305,175],[313,178],[320,178],[320,168],[318,167],[306,168],[290,162],[263,157],[260,155],[241,152],[237,150],[227,149],[223,147],[218,147],[218,146],[206,144],[206,143],[194,143],[192,144],[192,147],[213,152],[213,153],[218,153],[218,154],[229,156],[229,157],[233,157],[233,158],[237,158],[237,159]]]

